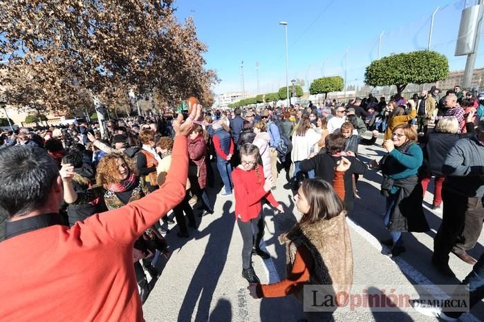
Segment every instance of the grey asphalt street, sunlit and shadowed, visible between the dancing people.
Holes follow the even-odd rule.
[[[377,144],[381,144],[378,139]],[[379,160],[384,155],[378,146],[360,146],[360,158]],[[384,229],[384,197],[380,195],[380,173],[368,171],[357,184],[361,199],[348,216],[354,258],[354,287],[369,291],[389,285],[411,287],[412,284],[443,285],[459,283],[472,268],[451,255],[449,265],[457,279],[443,278],[430,264],[433,238],[440,225],[442,211],[431,211],[431,193],[427,192],[424,209],[431,227],[425,234],[404,234],[407,252],[398,258],[382,254],[378,239],[389,238]],[[274,283],[285,276],[285,247],[277,236],[288,231],[300,218],[292,200],[292,192],[283,189],[285,173],[281,172],[274,196],[286,209],[276,214],[268,205],[266,216],[266,249],[269,260],[253,257],[254,269],[263,283]],[[218,193],[212,190],[212,198]],[[429,188],[430,189],[430,188]],[[147,321],[297,321],[302,305],[292,296],[254,300],[248,294],[248,283],[241,277],[242,239],[234,225],[234,199],[218,197],[215,214],[201,219],[198,231],[190,231],[189,239],[178,238],[174,227],[167,240],[173,251],[169,261],[160,260],[162,274],[143,305]],[[197,219],[200,220],[200,218]],[[484,238],[469,252],[475,258],[484,252]],[[387,292],[388,294],[388,292]],[[337,310],[335,321],[437,321],[416,313],[411,307],[395,312],[375,312],[358,308],[354,312]],[[484,321],[484,305],[479,303],[463,321]]]

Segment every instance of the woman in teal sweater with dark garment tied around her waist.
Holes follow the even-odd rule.
[[[422,185],[418,181],[418,169],[422,165],[423,153],[417,144],[417,131],[411,124],[400,124],[393,128],[391,140],[385,140],[383,147],[388,151],[380,161],[373,160],[371,167],[382,170],[381,193],[387,197],[384,224],[391,239],[383,245],[392,246],[391,256],[405,252],[402,232],[429,231],[429,225],[422,209]]]

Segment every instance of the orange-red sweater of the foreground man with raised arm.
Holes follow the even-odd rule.
[[[165,184],[145,198],[0,243],[3,321],[143,321],[133,243],[185,196],[187,138],[177,135]]]

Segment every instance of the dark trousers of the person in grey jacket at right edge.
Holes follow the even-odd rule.
[[[434,256],[437,263],[448,264],[449,253],[465,254],[476,245],[483,229],[482,198],[468,198],[442,190],[442,224],[434,238]]]

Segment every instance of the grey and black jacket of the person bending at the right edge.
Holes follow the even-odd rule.
[[[476,136],[460,139],[445,158],[444,189],[466,197],[484,196],[484,145]]]

